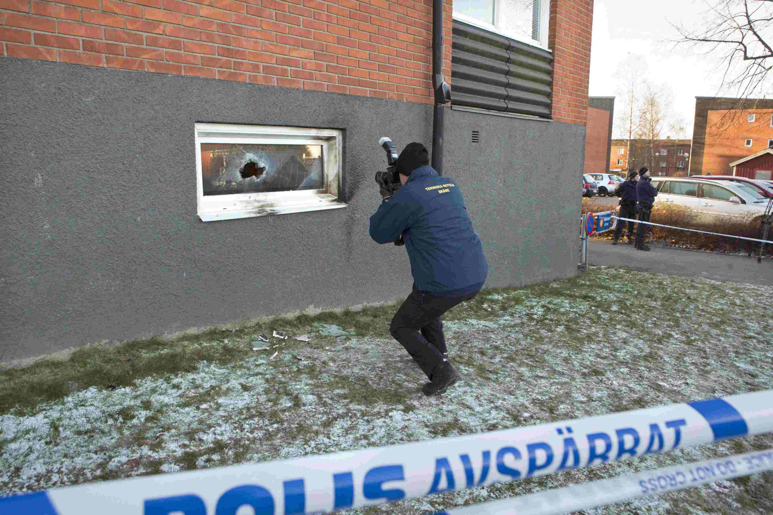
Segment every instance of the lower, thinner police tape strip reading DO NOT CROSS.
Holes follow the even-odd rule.
[[[560,515],[768,470],[773,470],[773,449],[600,479],[511,499],[454,508],[435,515]]]

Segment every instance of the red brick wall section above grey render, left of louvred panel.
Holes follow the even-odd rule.
[[[0,21],[0,56],[432,102],[431,0],[0,0]]]

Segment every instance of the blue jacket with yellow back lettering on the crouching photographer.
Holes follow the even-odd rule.
[[[480,289],[489,273],[456,182],[431,166],[411,172],[370,217],[370,237],[391,243],[403,235],[410,272],[421,291],[458,296]]]

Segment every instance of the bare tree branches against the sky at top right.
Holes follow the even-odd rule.
[[[682,39],[723,69],[720,90],[744,100],[771,93],[773,0],[703,0],[707,11],[695,29],[672,24]],[[746,106],[746,108],[754,108]]]

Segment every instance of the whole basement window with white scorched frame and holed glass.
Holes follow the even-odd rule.
[[[345,208],[342,131],[196,124],[196,187],[203,222]]]

